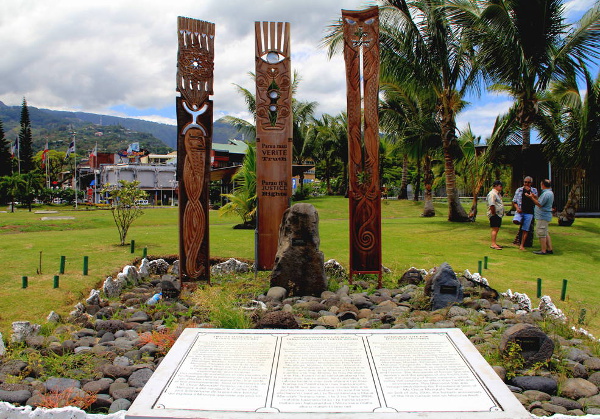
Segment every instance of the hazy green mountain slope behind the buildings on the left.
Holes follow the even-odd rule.
[[[89,150],[98,144],[99,151],[116,152],[138,142],[151,153],[165,153],[177,148],[177,127],[135,118],[121,118],[88,112],[68,112],[28,106],[34,152],[44,148],[67,149],[75,132],[77,150]],[[7,106],[0,101],[0,120],[5,137],[18,136],[21,106]],[[226,144],[242,135],[231,125],[217,120],[213,123],[213,142]],[[54,146],[53,146],[54,145]]]

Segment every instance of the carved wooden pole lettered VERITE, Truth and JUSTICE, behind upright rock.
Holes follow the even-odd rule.
[[[290,206],[292,75],[290,24],[256,22],[256,267],[273,268],[279,225]]]

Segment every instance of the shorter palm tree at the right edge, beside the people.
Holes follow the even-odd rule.
[[[551,98],[557,112],[546,119],[549,123],[540,127],[547,144],[547,154],[559,167],[573,172],[573,183],[563,210],[558,215],[560,225],[570,226],[581,199],[581,187],[586,171],[600,157],[600,73],[592,79],[582,63],[586,93],[582,97],[577,86],[575,72],[554,84]],[[554,117],[552,117],[554,116]],[[562,141],[561,141],[562,139]]]

